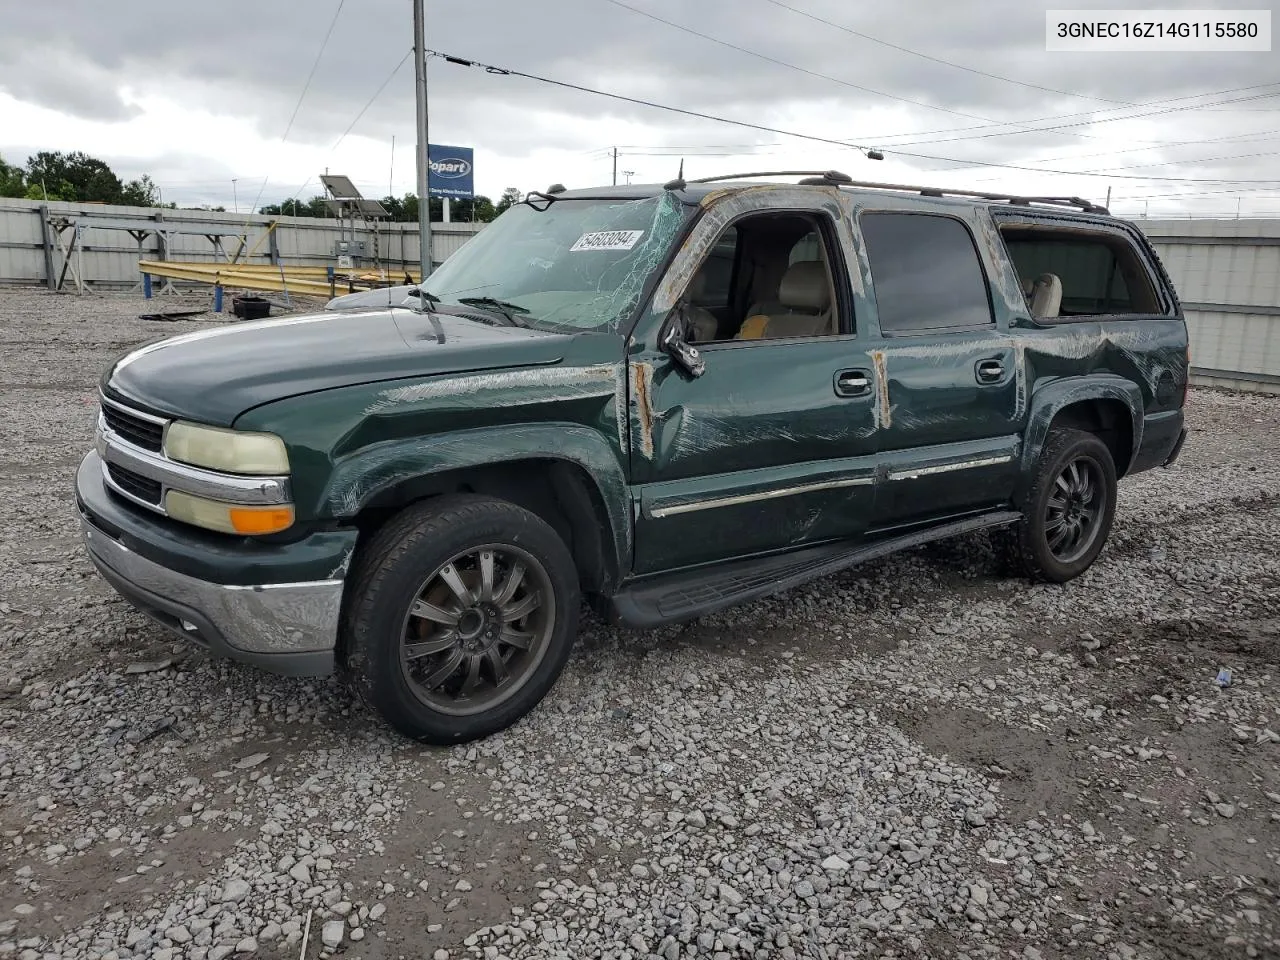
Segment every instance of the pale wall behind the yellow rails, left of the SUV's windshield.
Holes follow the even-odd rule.
[[[246,232],[253,255],[247,262],[269,264],[278,256],[285,264],[334,262],[333,244],[340,236],[338,221],[306,216],[260,216],[227,214],[206,210],[156,210],[138,206],[106,206],[104,204],[41,204],[31,200],[0,197],[0,284],[42,284],[46,280],[46,262],[51,264],[55,278],[61,273],[63,260],[54,237],[47,228],[51,247],[49,261],[45,256],[45,215],[78,219],[83,224],[78,265],[83,279],[95,289],[127,289],[138,282],[138,260],[157,260],[159,241],[155,234],[146,238],[141,256],[138,243],[127,230],[95,228],[95,220],[111,223],[137,223],[141,228],[155,228],[163,223],[183,230],[207,228],[230,230],[233,236],[221,238],[228,252],[234,252],[238,241],[234,234]],[[279,220],[274,236],[264,238],[268,225]],[[452,223],[433,224],[431,246],[435,262],[443,261],[466,243],[484,224]],[[384,264],[416,266],[419,242],[416,223],[381,224],[379,252]],[[70,243],[72,230],[64,234]],[[356,237],[366,241],[372,251],[372,232],[358,230]],[[260,242],[261,241],[261,242]],[[198,233],[173,233],[168,248],[169,260],[220,260],[214,244]],[[241,257],[242,262],[246,257]],[[68,280],[69,280],[68,274]]]

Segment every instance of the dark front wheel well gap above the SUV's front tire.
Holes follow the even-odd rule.
[[[595,480],[562,460],[518,460],[412,477],[380,492],[356,516],[360,540],[404,507],[445,493],[477,493],[524,507],[568,545],[586,594],[608,594],[617,584],[612,522]]]

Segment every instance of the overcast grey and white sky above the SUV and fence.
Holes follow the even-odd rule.
[[[148,173],[166,202],[242,211],[319,193],[326,168],[366,196],[413,189],[410,0],[6,8],[0,156],[9,163],[83,150],[125,178]],[[835,168],[1100,201],[1110,187],[1125,215],[1280,215],[1276,52],[1046,52],[1046,8],[1024,0],[428,0],[426,9],[434,50],[886,154],[874,163],[850,147],[430,59],[431,140],[472,146],[476,187],[492,197],[508,186],[608,183],[616,146],[620,182],[622,172],[668,179],[684,157],[689,177]]]

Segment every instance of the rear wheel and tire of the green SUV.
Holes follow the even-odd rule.
[[[1091,433],[1050,431],[1023,502],[1023,518],[1005,532],[1005,557],[1032,580],[1065,584],[1092,566],[1111,532],[1116,468]]]

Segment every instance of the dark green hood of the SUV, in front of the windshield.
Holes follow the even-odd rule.
[[[430,374],[553,364],[564,337],[410,310],[329,312],[200,330],[148,343],[104,389],[170,416],[230,426],[244,411],[301,393]]]

